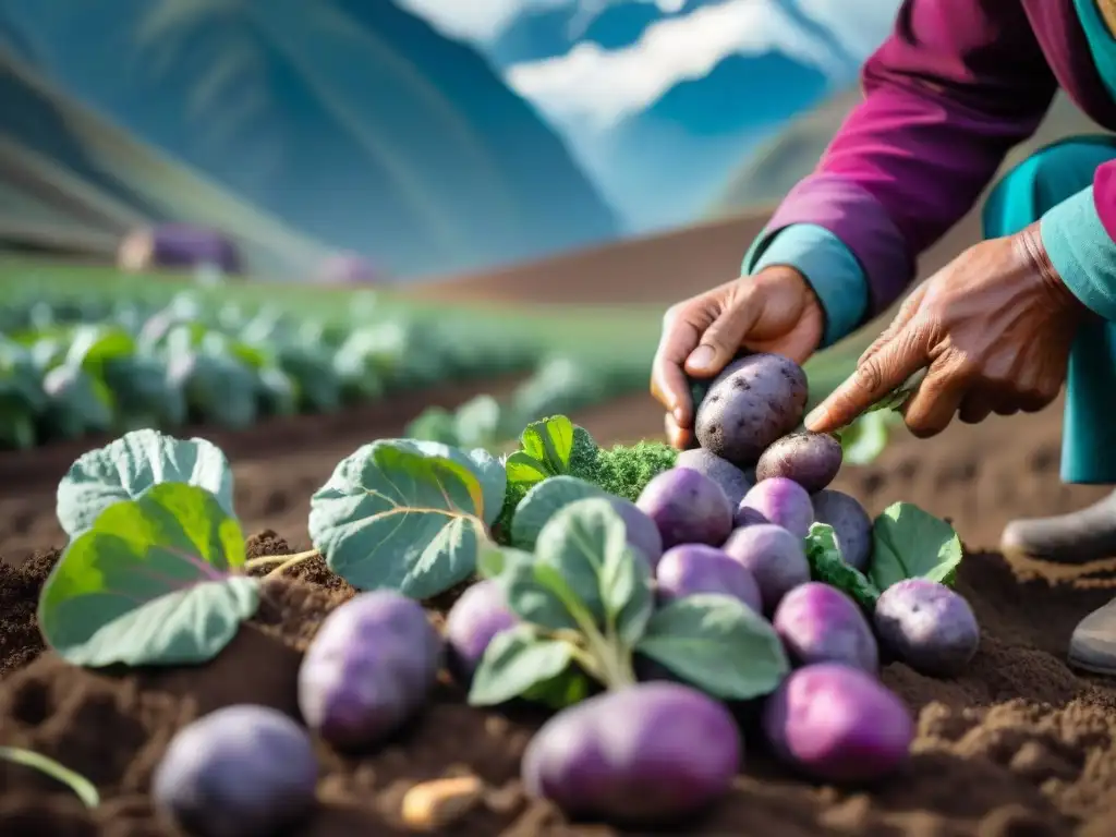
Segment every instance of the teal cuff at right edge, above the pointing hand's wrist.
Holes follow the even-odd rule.
[[[1048,210],[1039,222],[1039,234],[1070,292],[1116,323],[1116,241],[1100,223],[1093,186]]]

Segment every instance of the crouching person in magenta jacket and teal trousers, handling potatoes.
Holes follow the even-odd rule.
[[[801,363],[886,309],[1059,87],[1116,131],[1116,0],[906,0],[863,81],[743,278],[667,312],[652,389],[675,445],[693,427],[683,371],[714,374],[741,345]],[[1041,410],[1065,382],[1062,480],[1116,483],[1116,137],[1036,152],[992,189],[983,225],[984,241],[914,289],[806,426],[834,431],[921,369],[904,410],[921,437],[954,414],[974,424]],[[1012,521],[1003,547],[1070,564],[1116,556],[1116,493]],[[1116,673],[1116,600],[1078,626],[1069,653]]]

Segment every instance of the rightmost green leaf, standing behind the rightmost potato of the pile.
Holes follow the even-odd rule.
[[[913,503],[893,503],[872,527],[869,575],[881,590],[904,578],[949,584],[961,566],[961,538],[944,520]]]

